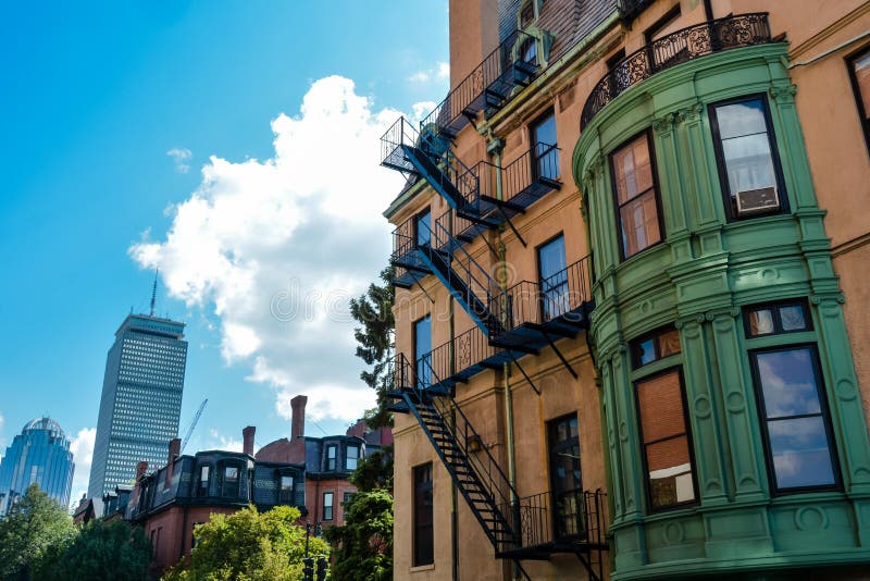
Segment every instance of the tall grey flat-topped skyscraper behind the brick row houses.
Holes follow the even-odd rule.
[[[88,496],[101,498],[136,475],[136,463],[160,466],[178,436],[187,342],[184,323],[129,314],[105,361]]]

